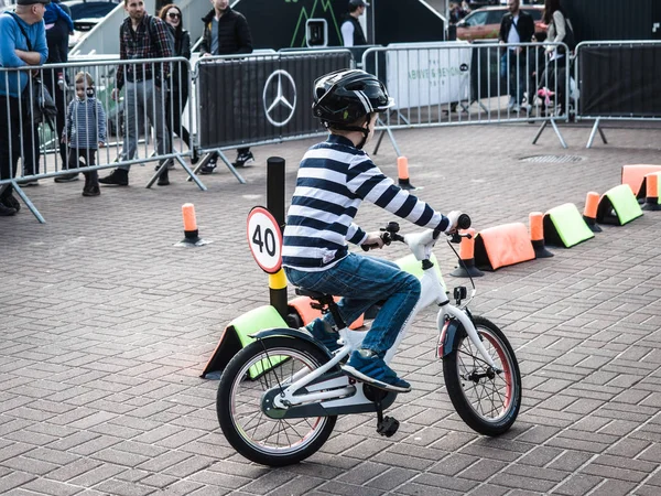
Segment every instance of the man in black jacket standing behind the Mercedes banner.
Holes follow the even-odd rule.
[[[229,0],[210,0],[214,9],[202,18],[204,32],[199,51],[202,56],[210,55],[235,55],[252,53],[252,35],[248,21],[243,14],[229,7]],[[241,88],[237,88],[240,90]],[[246,109],[248,110],[248,109]],[[210,174],[216,169],[218,155],[214,153],[212,159],[199,171],[202,174]],[[237,150],[235,168],[242,168],[254,162],[250,148]]]

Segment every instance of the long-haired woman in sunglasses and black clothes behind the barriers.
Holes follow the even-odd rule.
[[[191,58],[191,35],[183,29],[182,11],[174,3],[163,7],[159,17],[174,34],[174,56]],[[167,125],[172,125],[173,134],[177,134],[188,148],[191,148],[191,136],[188,130],[182,126],[182,116],[188,101],[188,66],[186,64],[173,64],[172,84],[167,91]],[[171,112],[173,114],[171,116]],[[197,162],[194,160],[193,163]]]

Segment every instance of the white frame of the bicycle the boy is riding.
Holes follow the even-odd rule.
[[[429,261],[432,247],[435,244],[435,239],[431,233],[427,230],[404,236],[404,242],[415,255],[416,259],[423,263],[423,276],[420,280],[421,296],[404,328],[398,335],[393,346],[386,354],[384,362],[390,363],[392,360],[418,313],[434,303],[440,306],[436,317],[436,326],[441,339],[440,347],[444,344],[442,341],[447,338],[443,333],[445,321],[446,319],[454,317],[462,324],[484,360],[497,369],[494,360],[485,349],[469,315],[463,309],[451,304],[438,273]],[[475,291],[473,292],[474,294]],[[303,331],[297,330],[282,331],[290,336],[303,334]],[[273,335],[273,330],[258,333],[253,337],[259,339],[267,335]],[[343,346],[335,353],[333,358],[313,371],[300,370],[294,374],[290,379],[290,385],[284,390],[278,386],[267,391],[262,398],[264,413],[272,418],[300,418],[312,417],[314,414],[328,416],[376,411],[373,399],[369,399],[366,396],[361,382],[356,382],[356,380],[339,373],[330,373],[330,377],[325,377],[345,357],[360,347],[365,335],[366,332],[351,331],[348,327],[339,330],[338,342]],[[304,392],[300,392],[302,389],[304,389]],[[389,392],[381,401],[383,408],[390,406],[395,397],[395,392]],[[278,410],[273,411],[271,407],[275,407]]]

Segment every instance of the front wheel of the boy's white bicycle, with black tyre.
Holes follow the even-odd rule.
[[[496,364],[491,368],[465,332],[455,335],[454,353],[443,358],[443,376],[457,413],[473,430],[500,435],[521,408],[521,373],[507,337],[484,317],[474,317],[477,334]]]

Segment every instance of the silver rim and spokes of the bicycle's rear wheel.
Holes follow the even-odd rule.
[[[288,359],[278,363],[278,357],[283,356]],[[316,368],[313,359],[293,349],[269,349],[269,357],[277,365],[256,379],[250,378],[250,369],[256,364],[268,363],[266,353],[254,356],[237,374],[231,387],[231,420],[243,441],[254,450],[285,455],[312,443],[324,429],[327,418],[271,419],[263,413],[261,399],[267,390],[278,387],[278,384],[284,386],[293,374],[303,368]]]

